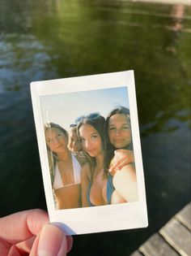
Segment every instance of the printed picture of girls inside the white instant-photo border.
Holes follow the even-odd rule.
[[[40,96],[56,210],[138,202],[127,87]]]

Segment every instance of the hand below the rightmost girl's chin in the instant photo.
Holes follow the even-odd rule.
[[[112,163],[109,167],[109,172],[112,176],[115,175],[116,171],[125,167],[129,163],[134,163],[134,151],[133,150],[115,150],[114,157],[112,158]]]

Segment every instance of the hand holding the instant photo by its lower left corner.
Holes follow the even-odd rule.
[[[49,224],[44,210],[23,210],[0,219],[1,256],[65,256],[72,237]]]

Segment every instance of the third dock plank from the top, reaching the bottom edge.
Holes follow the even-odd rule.
[[[145,256],[178,256],[174,249],[166,241],[163,240],[163,237],[159,236],[158,233],[155,233],[151,236],[142,246],[139,247],[141,253]]]

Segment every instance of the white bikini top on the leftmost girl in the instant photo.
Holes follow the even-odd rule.
[[[81,183],[81,166],[79,164],[79,161],[74,157],[74,154],[71,153],[72,157],[72,165],[73,165],[73,171],[74,171],[74,184],[80,184]],[[61,189],[63,187],[69,186],[71,184],[63,185],[62,178],[60,175],[60,171],[58,169],[57,163],[55,166],[55,176],[53,180],[53,189]]]

